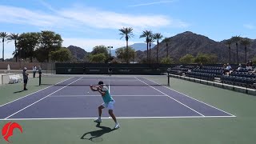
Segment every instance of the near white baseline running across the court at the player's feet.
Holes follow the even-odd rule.
[[[233,118],[234,116],[174,116],[174,117],[117,117],[118,119],[142,119],[142,118]],[[8,118],[0,119],[0,121],[26,121],[26,120],[79,120],[79,119],[95,119],[90,118]],[[110,117],[102,117],[102,119],[110,119]]]

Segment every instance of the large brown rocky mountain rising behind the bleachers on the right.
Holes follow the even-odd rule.
[[[218,62],[229,62],[229,50],[225,45],[225,41],[215,42],[214,40],[207,38],[206,36],[200,34],[194,34],[190,31],[186,31],[182,34],[177,34],[173,37],[168,38],[168,49],[171,58],[178,61],[179,58],[186,54],[192,54],[196,56],[198,53],[204,54],[216,54],[218,56]],[[253,58],[256,54],[256,50],[252,47],[256,46],[256,40],[252,40],[252,43],[247,48],[247,58]],[[151,58],[156,59],[157,46],[151,49]],[[166,57],[166,43],[159,42],[158,46],[158,60]],[[139,58],[146,58],[146,51],[139,54]],[[239,62],[244,62],[245,53],[244,46],[239,46],[238,50]],[[231,45],[231,63],[236,61],[236,47],[235,44]]]

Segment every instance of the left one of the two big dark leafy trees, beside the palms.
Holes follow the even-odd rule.
[[[21,58],[30,58],[33,62],[34,50],[38,48],[40,33],[23,33],[18,37],[17,47],[20,49]]]

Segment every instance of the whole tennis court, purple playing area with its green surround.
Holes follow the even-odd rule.
[[[97,107],[102,98],[98,92],[92,92],[89,85],[99,80],[109,86],[116,101],[114,114],[121,125],[118,130],[112,130],[114,122],[106,110],[102,111],[101,126],[93,122],[98,117]],[[170,78],[167,86],[164,75],[55,75],[43,77],[41,86],[38,78],[31,79],[29,90],[24,92],[10,86],[1,87],[5,91],[0,106],[1,126],[10,121],[21,124],[24,134],[17,131],[17,136],[11,139],[20,138],[19,143],[203,143],[212,136],[218,136],[212,138],[211,142],[215,143],[254,139],[250,134],[246,134],[247,139],[238,138],[250,123],[241,122],[245,120],[241,115],[255,108],[251,105],[256,102],[253,96],[176,78]],[[14,99],[10,98],[12,95]],[[238,106],[243,106],[243,110]],[[253,115],[246,120],[255,120]],[[241,125],[245,126],[240,129]],[[255,127],[253,123],[250,132],[254,132]],[[222,134],[223,139],[217,133]],[[90,139],[93,135],[96,135],[94,139]],[[193,137],[195,135],[197,137]]]

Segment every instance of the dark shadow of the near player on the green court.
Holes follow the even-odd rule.
[[[110,127],[106,127],[106,126],[100,126],[100,122],[97,123],[96,127],[101,128],[102,130],[94,130],[94,131],[90,131],[87,132],[86,134],[83,134],[82,137],[80,139],[87,139],[90,141],[102,141],[103,139],[100,138],[103,134],[107,134],[110,133],[111,131],[113,131],[114,129],[111,129]],[[90,134],[90,136],[86,136]]]

